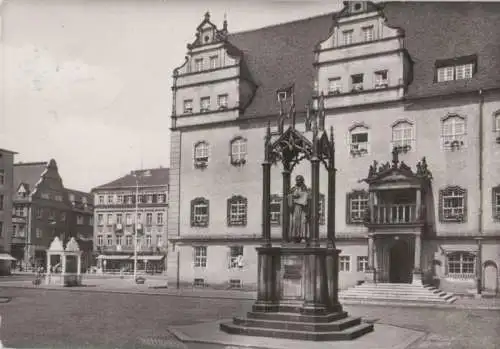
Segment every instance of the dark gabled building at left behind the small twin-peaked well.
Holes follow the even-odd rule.
[[[82,269],[90,266],[91,196],[65,188],[54,159],[14,164],[12,200],[11,251],[19,267],[45,265],[45,251],[56,236],[63,243],[74,237],[82,250]]]

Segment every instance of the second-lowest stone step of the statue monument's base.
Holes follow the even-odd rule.
[[[329,323],[307,323],[300,321],[280,321],[264,319],[248,319],[235,317],[233,324],[244,327],[259,327],[276,330],[306,331],[306,332],[338,332],[346,328],[357,326],[361,318],[346,317]]]

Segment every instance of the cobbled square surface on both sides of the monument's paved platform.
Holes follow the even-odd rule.
[[[183,348],[169,326],[244,314],[252,301],[5,288],[1,340],[8,348]],[[499,311],[345,306],[375,323],[427,333],[412,349],[498,348]]]

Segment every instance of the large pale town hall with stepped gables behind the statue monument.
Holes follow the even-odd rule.
[[[322,103],[336,144],[340,288],[375,278],[498,289],[499,20],[495,3],[348,2],[233,34],[207,13],[173,73],[170,284],[256,286],[266,125],[276,131],[280,104],[294,105],[303,130],[306,106]],[[298,174],[310,186],[309,168]]]

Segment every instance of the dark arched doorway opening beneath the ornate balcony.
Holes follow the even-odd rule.
[[[413,254],[407,241],[397,240],[389,251],[389,282],[411,283]]]

